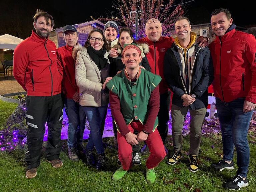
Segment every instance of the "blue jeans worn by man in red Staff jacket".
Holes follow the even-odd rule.
[[[250,149],[247,141],[252,111],[243,112],[245,98],[224,103],[216,98],[216,109],[220,119],[223,144],[223,159],[233,159],[234,145],[237,152],[237,175],[247,176],[250,161]]]

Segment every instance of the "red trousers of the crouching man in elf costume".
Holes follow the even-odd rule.
[[[143,129],[140,121],[133,121],[128,125],[129,130],[133,133],[134,130],[140,132]],[[122,163],[124,170],[129,170],[132,167],[132,145],[127,143],[125,136],[117,133],[118,143],[118,158]],[[157,129],[148,135],[146,144],[149,147],[150,155],[147,159],[146,166],[148,169],[156,167],[165,157],[163,141]]]

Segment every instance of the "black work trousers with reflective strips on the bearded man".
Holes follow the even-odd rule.
[[[46,122],[48,140],[46,158],[48,161],[59,159],[61,151],[61,127],[63,119],[63,102],[61,94],[53,96],[27,96],[26,122],[28,151],[25,154],[27,170],[40,164]]]

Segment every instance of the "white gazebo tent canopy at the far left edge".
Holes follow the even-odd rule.
[[[9,34],[0,36],[0,49],[15,49],[15,47],[21,42],[23,39],[18,37],[14,37]]]

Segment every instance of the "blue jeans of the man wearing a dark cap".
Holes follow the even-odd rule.
[[[73,99],[64,99],[64,108],[68,117],[68,148],[75,148],[82,145],[86,116],[83,107]]]

